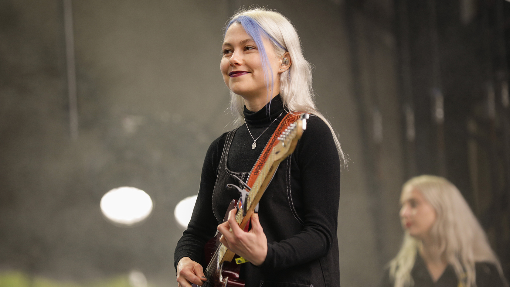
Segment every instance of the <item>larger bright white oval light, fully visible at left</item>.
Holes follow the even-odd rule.
[[[152,211],[152,200],[143,190],[123,186],[110,190],[100,202],[101,212],[118,226],[133,226]]]

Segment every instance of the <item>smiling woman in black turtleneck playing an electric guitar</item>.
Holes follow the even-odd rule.
[[[206,154],[188,229],[175,249],[177,282],[201,285],[203,247],[215,235],[249,262],[241,278],[250,286],[339,286],[337,217],[340,158],[333,129],[315,108],[311,65],[296,30],[283,15],[243,10],[225,28],[220,70],[231,90],[231,111],[240,126],[218,137]],[[287,113],[310,113],[293,154],[278,167],[244,232],[233,220],[220,224],[266,142]],[[232,228],[232,232],[230,231]]]

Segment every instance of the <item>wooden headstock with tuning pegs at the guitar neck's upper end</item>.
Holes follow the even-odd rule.
[[[308,113],[303,113],[301,117],[290,124],[285,131],[278,136],[278,142],[273,147],[274,160],[284,160],[287,156],[294,152],[297,145],[297,140],[301,138],[303,131],[307,129]]]

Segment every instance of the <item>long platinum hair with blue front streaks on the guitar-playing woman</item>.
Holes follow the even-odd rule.
[[[333,127],[331,127],[329,121],[327,121],[327,119],[319,111],[317,111],[317,108],[315,107],[314,93],[312,89],[312,66],[306,59],[304,59],[301,51],[301,41],[299,40],[296,29],[289,19],[278,12],[265,8],[253,8],[250,10],[241,9],[227,21],[225,32],[234,22],[241,23],[246,32],[256,42],[258,42],[260,37],[269,38],[278,57],[282,57],[286,52],[289,52],[292,64],[289,69],[281,73],[280,78],[280,95],[286,108],[289,109],[287,112],[308,112],[320,117],[322,121],[327,124],[333,134],[341,161],[346,164],[346,156],[340,147],[340,142],[338,141],[338,137],[333,130]],[[262,30],[258,33],[258,35],[254,33],[254,29],[252,27],[245,27],[248,25],[253,26],[253,24]],[[268,69],[270,67],[265,64],[267,61],[267,54],[264,50],[259,50],[264,69],[269,75]],[[266,84],[268,85],[269,90],[269,85],[271,84],[269,83],[269,80]],[[231,91],[230,108],[232,114],[236,117],[235,124],[241,124],[243,122],[243,106],[243,98]]]

